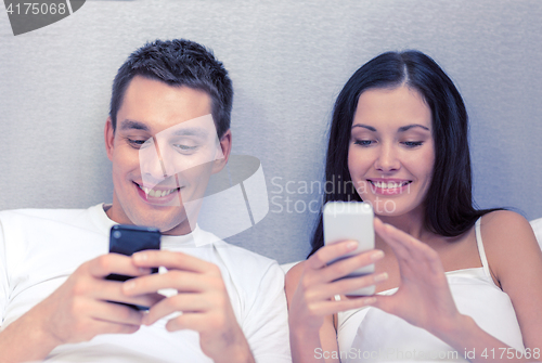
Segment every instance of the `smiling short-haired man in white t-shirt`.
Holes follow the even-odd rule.
[[[278,264],[195,224],[230,155],[232,99],[227,70],[197,43],[130,55],[104,130],[113,204],[0,212],[0,362],[291,361]],[[162,250],[107,254],[115,223],[158,228]]]

